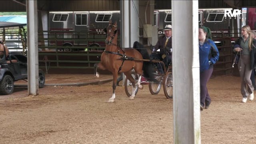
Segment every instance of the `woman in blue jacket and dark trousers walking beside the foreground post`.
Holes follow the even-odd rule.
[[[200,62],[200,110],[208,108],[211,98],[206,84],[212,76],[213,65],[219,59],[219,51],[216,44],[211,40],[211,31],[202,26],[199,28],[199,62]]]

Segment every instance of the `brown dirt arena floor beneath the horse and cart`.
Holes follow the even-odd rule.
[[[86,77],[87,75],[83,75]],[[88,75],[91,76],[91,75]],[[201,111],[202,144],[255,144],[256,100],[242,103],[240,78],[210,79],[209,109]],[[112,83],[45,86],[38,96],[16,88],[0,96],[0,144],[172,144],[172,99],[148,86],[129,100]]]

